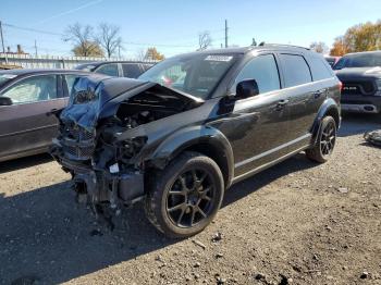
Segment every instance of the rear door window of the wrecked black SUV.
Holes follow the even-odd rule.
[[[297,86],[312,80],[306,60],[302,55],[280,54],[285,87]]]

